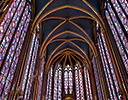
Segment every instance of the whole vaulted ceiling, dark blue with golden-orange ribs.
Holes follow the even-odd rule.
[[[49,66],[56,62],[90,63],[99,0],[36,0],[37,16],[42,26],[40,55],[47,50]]]

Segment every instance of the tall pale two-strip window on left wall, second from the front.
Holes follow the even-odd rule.
[[[25,63],[25,72],[23,76],[22,82],[22,91],[25,92],[24,99],[29,99],[32,81],[34,78],[34,69],[36,64],[37,52],[39,45],[39,25],[37,25],[37,29],[32,36],[31,46],[28,52],[28,58]]]

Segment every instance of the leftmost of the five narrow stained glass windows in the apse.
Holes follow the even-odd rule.
[[[51,100],[52,99],[52,80],[53,80],[53,67],[50,68],[50,71],[48,73],[47,91],[46,91],[45,100]]]

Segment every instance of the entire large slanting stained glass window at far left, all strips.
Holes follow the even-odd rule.
[[[14,0],[0,23],[0,96],[7,99],[28,29],[31,6]]]

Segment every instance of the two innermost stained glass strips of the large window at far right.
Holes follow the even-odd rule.
[[[108,7],[109,7],[109,9],[111,10],[110,13],[112,13],[112,9],[111,9],[111,6],[110,6],[109,4],[108,4]],[[109,10],[109,11],[110,11],[110,10]],[[111,15],[112,15],[112,18],[115,17],[115,18],[113,18],[114,23],[115,23],[115,24],[118,24],[118,25],[116,25],[116,26],[117,26],[116,28],[117,28],[117,30],[118,30],[118,32],[119,32],[119,34],[120,34],[120,35],[119,35],[120,37],[118,36],[118,32],[116,31],[116,29],[115,29],[115,27],[114,27],[114,24],[113,24],[113,22],[112,22],[112,19],[110,18],[110,15],[109,15],[109,13],[108,13],[107,10],[105,11],[105,15],[106,15],[106,18],[107,18],[107,20],[108,20],[109,26],[110,26],[110,28],[111,28],[112,34],[113,34],[113,36],[114,36],[114,39],[115,39],[115,41],[116,41],[117,47],[118,47],[119,52],[120,52],[120,55],[121,55],[121,57],[122,57],[122,60],[123,60],[123,62],[124,62],[126,71],[127,71],[127,73],[128,73],[128,58],[127,58],[127,55],[126,55],[127,52],[125,52],[125,50],[124,50],[124,48],[123,48],[123,45],[124,45],[126,51],[128,50],[128,46],[127,46],[127,45],[128,45],[128,41],[127,41],[127,39],[125,38],[125,36],[124,36],[124,34],[123,34],[123,32],[122,32],[122,29],[120,28],[120,25],[118,24],[118,21],[116,20],[116,17],[114,16],[114,13],[111,14]],[[121,38],[123,44],[121,43],[120,38]]]

